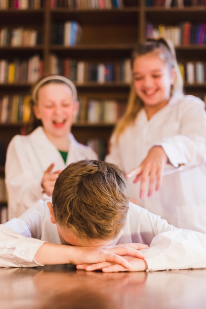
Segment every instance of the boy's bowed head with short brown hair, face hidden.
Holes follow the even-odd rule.
[[[92,243],[114,239],[128,210],[124,174],[116,165],[103,161],[72,163],[58,176],[52,203],[51,221],[57,223],[60,234],[68,230],[82,244],[85,239]]]

